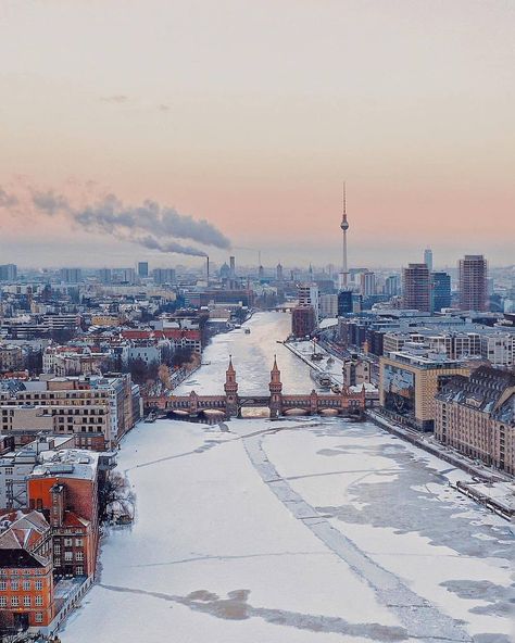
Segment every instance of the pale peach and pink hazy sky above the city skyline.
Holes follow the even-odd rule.
[[[344,179],[350,266],[513,264],[514,33],[513,0],[3,0],[0,263],[201,264],[77,223],[114,194],[217,262],[338,265]]]

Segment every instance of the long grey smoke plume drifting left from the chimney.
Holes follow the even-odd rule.
[[[179,214],[174,207],[161,206],[155,201],[148,200],[133,206],[109,194],[91,205],[78,209],[63,194],[33,190],[32,204],[42,214],[65,216],[89,232],[103,232],[160,252],[206,256],[204,251],[183,244],[177,239],[221,249],[230,248],[227,237],[205,219],[193,219]]]

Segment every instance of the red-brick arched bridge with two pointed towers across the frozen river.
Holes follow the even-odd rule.
[[[362,419],[365,411],[365,389],[352,393],[343,388],[341,393],[319,394],[315,390],[300,395],[282,393],[280,370],[274,357],[267,395],[239,395],[236,370],[229,356],[229,366],[225,374],[225,395],[199,395],[191,391],[189,395],[168,395],[150,398],[147,406],[168,417],[202,418],[224,416],[225,418],[241,417],[241,409],[249,407],[267,407],[273,418],[281,415],[341,415]],[[213,413],[218,412],[218,413]]]

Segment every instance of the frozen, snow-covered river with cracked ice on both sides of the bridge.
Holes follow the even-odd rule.
[[[218,336],[183,390],[285,392],[307,366],[276,343],[289,316]],[[130,529],[103,541],[99,583],[63,643],[513,641],[513,537],[452,491],[465,474],[339,419],[160,420],[124,441]]]

